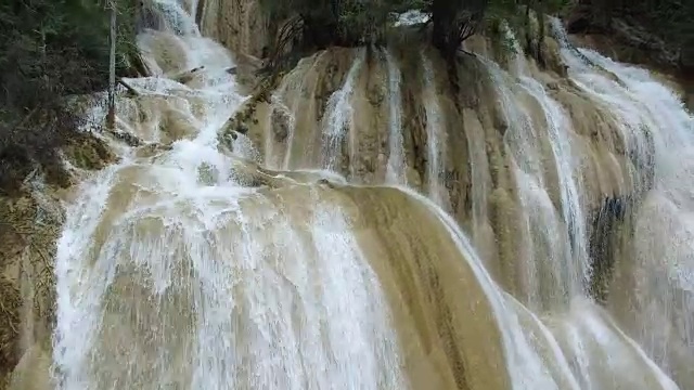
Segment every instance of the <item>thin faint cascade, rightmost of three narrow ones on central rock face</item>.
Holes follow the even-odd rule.
[[[441,183],[444,156],[446,155],[446,129],[441,126],[444,118],[436,91],[434,66],[424,52],[421,53],[421,56],[423,67],[423,100],[426,112],[426,192],[435,204],[446,209],[448,207],[448,194],[444,183]]]

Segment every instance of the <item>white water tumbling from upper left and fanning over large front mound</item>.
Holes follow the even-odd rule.
[[[165,17],[190,18],[164,5],[179,12]],[[151,52],[174,44],[185,54],[178,64],[156,57],[167,62],[159,67],[205,69],[188,87],[128,80],[167,115],[147,140],[163,147],[124,154],[66,207],[57,388],[406,388],[383,292],[339,210],[311,203],[307,222],[281,195],[234,180],[240,157],[255,151],[241,135],[234,155],[217,141],[245,99],[226,72],[228,52],[194,34],[147,34],[140,41]]]

